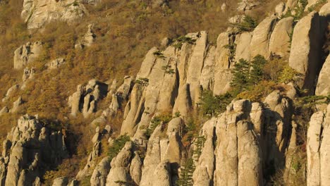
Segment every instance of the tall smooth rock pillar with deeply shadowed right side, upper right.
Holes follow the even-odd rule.
[[[295,25],[291,44],[289,66],[302,73],[304,80],[300,87],[312,92],[317,72],[321,68],[322,36],[319,13],[313,11]]]

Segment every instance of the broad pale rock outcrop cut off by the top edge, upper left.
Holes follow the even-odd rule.
[[[51,21],[62,20],[72,23],[88,15],[80,1],[23,1],[21,17],[27,23],[27,28],[41,28]]]

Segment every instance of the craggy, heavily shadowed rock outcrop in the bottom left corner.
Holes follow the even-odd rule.
[[[4,141],[1,182],[32,185],[42,176],[41,167],[56,166],[67,156],[61,132],[51,132],[33,116],[22,116]]]

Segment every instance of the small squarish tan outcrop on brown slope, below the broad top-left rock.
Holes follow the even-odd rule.
[[[42,42],[27,42],[27,44],[18,47],[14,52],[14,68],[21,69],[26,66],[27,63],[35,61],[35,59],[41,54],[42,49]]]

